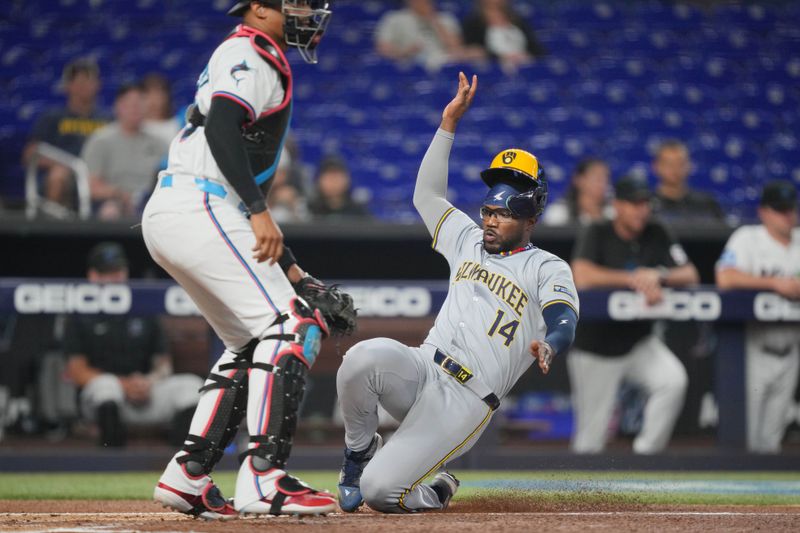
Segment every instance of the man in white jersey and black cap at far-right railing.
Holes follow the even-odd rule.
[[[717,263],[717,287],[773,291],[800,300],[797,190],[790,181],[764,186],[760,225],[733,232]],[[800,370],[797,324],[752,322],[746,330],[747,448],[777,453]]]

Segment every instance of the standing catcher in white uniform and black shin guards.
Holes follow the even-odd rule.
[[[324,291],[284,249],[264,197],[292,112],[284,51],[296,47],[316,62],[331,12],[324,1],[263,0],[238,2],[229,14],[243,24],[200,75],[189,123],[172,141],[142,220],[150,254],[226,347],[154,498],[209,519],[325,513],[336,507],[333,495],[284,471],[305,378],[328,332],[319,306],[295,288]],[[231,505],[210,473],[245,414],[250,444]]]

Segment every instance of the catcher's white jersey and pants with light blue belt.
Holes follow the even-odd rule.
[[[191,296],[226,348],[201,389],[187,444],[156,488],[156,498],[178,502],[178,510],[183,503],[174,494],[194,501],[210,483],[220,448],[235,435],[243,410],[250,455],[237,478],[236,510],[279,511],[284,501],[300,501],[313,490],[297,488],[282,469],[318,342],[298,341],[305,318],[296,311],[295,292],[281,267],[252,257],[256,239],[250,221],[205,131],[212,99],[242,106],[249,120],[243,139],[260,185],[277,167],[288,131],[291,87],[291,70],[280,47],[265,34],[239,26],[200,75],[195,101],[200,118],[172,141],[168,167],[144,211],[150,254]],[[313,327],[315,337],[308,341],[319,339],[319,327]],[[332,504],[330,498],[326,502]]]

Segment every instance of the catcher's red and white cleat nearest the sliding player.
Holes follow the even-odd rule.
[[[333,494],[312,489],[278,468],[259,472],[250,458],[239,469],[233,502],[238,512],[254,515],[321,515],[336,510]]]

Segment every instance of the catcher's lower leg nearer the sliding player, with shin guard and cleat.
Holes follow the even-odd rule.
[[[255,349],[247,403],[250,448],[241,455],[234,499],[238,511],[318,514],[336,508],[332,495],[283,471],[292,449],[306,376],[323,335],[327,335],[324,320],[296,298]]]

